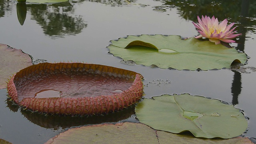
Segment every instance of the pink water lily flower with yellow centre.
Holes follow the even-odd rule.
[[[234,25],[234,22],[227,26],[227,19],[223,20],[220,24],[218,18],[215,18],[214,16],[212,16],[212,18],[209,16],[202,16],[202,20],[199,18],[199,16],[197,16],[197,19],[198,23],[192,22],[200,33],[200,35],[196,36],[195,38],[205,37],[209,38],[210,42],[220,44],[220,41],[227,43],[235,42],[231,39],[241,35],[234,34],[236,31],[233,32],[233,30],[236,27],[230,30],[230,28]]]

